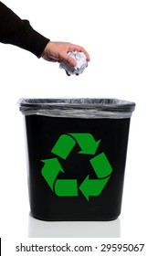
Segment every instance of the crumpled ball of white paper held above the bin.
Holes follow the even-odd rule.
[[[68,55],[77,61],[77,65],[72,67],[68,62],[63,61],[60,63],[59,68],[65,69],[69,76],[81,74],[87,67],[86,55],[79,51],[70,51],[68,52]]]

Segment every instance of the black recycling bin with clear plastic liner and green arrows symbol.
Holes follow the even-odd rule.
[[[21,99],[32,215],[112,220],[121,213],[135,103],[118,99]]]

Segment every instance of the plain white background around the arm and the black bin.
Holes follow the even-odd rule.
[[[83,46],[91,60],[82,75],[68,77],[58,69],[58,64],[0,44],[0,237],[4,242],[34,237],[43,237],[43,241],[51,237],[116,237],[111,239],[115,243],[145,241],[148,249],[151,247],[149,250],[155,252],[152,248],[158,229],[157,1],[4,3],[51,40]],[[47,223],[31,218],[24,123],[17,105],[21,97],[111,97],[136,102],[119,219],[105,223]]]

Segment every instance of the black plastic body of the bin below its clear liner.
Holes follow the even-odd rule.
[[[117,219],[121,214],[130,118],[72,119],[42,115],[24,117],[32,215],[37,219],[55,221]],[[87,143],[80,142],[79,145],[68,135],[69,133],[71,136],[89,135],[92,138],[91,143],[97,144],[96,152],[88,152],[84,147],[84,152],[81,153],[80,146],[89,146],[90,141],[85,138],[84,141]],[[62,141],[63,138],[68,139],[68,142]],[[69,150],[71,142],[75,145]],[[58,150],[68,150],[70,153],[63,159]],[[101,161],[99,169],[94,170],[92,163],[102,154],[107,156],[112,172],[106,186],[100,191],[98,185],[102,186],[104,182],[106,174],[101,173],[106,173],[106,165]],[[59,168],[54,161],[58,162]],[[49,185],[42,175],[44,170],[51,179]],[[99,176],[96,175],[96,171],[100,171]],[[78,188],[75,193],[71,193],[69,189],[74,190],[74,187],[70,187],[69,182],[73,182],[74,179]],[[58,187],[58,183],[61,182],[62,186]],[[63,193],[60,193],[60,189],[64,190]]]

